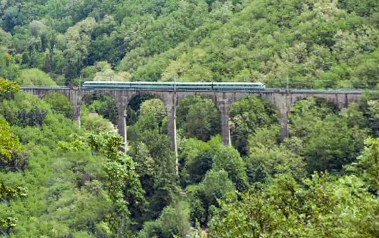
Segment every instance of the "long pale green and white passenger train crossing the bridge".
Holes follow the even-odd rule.
[[[262,83],[183,83],[183,82],[113,82],[89,81],[83,89],[126,89],[126,90],[167,90],[167,91],[249,91],[264,90]]]

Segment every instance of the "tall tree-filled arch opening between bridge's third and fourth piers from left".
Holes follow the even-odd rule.
[[[212,168],[213,157],[222,146],[221,112],[213,99],[187,95],[176,110],[179,141],[180,185],[185,188],[203,180]]]

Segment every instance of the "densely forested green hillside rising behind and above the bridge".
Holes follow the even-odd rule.
[[[0,72],[23,84],[262,81],[377,88],[375,0],[5,0]],[[33,70],[26,69],[33,68]],[[43,74],[42,70],[48,75]],[[23,76],[24,75],[24,76]]]

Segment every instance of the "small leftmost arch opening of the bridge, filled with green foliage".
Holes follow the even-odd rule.
[[[51,92],[45,94],[41,99],[50,104],[53,113],[62,114],[70,119],[73,118],[74,109],[72,108],[69,98],[65,94]]]

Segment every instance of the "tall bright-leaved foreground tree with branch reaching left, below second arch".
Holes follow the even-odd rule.
[[[112,132],[90,134],[77,140],[87,142],[95,152],[106,158],[104,162],[104,186],[113,203],[113,209],[103,217],[115,235],[130,235],[131,213],[144,209],[144,191],[135,172],[135,163],[130,156],[119,151],[122,138]],[[75,143],[75,142],[73,142]],[[65,143],[62,148],[68,149]]]

